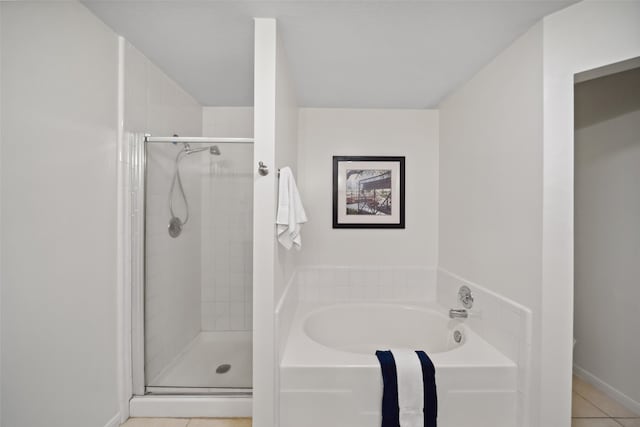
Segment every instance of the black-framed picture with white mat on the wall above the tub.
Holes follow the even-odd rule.
[[[404,157],[333,156],[333,228],[404,228]]]

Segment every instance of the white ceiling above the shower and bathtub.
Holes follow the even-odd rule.
[[[253,105],[253,17],[275,17],[300,106],[431,108],[575,0],[85,1],[203,105]]]

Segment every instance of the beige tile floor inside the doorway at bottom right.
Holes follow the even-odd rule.
[[[572,402],[572,427],[640,427],[640,414],[575,376]]]

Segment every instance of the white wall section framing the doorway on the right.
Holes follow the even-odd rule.
[[[581,2],[544,26],[541,425],[568,426],[573,318],[574,74],[640,56],[640,3]]]

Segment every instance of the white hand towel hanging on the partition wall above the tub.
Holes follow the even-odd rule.
[[[291,249],[302,247],[300,226],[307,222],[307,214],[302,207],[298,187],[293,179],[291,168],[280,169],[280,183],[278,185],[278,214],[276,225],[278,241],[282,246]]]

